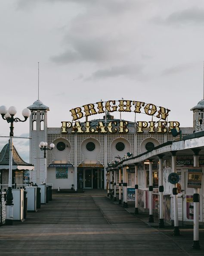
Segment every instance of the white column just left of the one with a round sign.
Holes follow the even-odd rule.
[[[164,227],[163,192],[163,161],[159,156],[159,227]]]

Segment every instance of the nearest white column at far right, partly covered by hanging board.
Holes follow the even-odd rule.
[[[197,154],[195,154],[197,153]],[[198,152],[194,152],[193,166],[199,167],[199,155]],[[199,243],[199,189],[193,189],[193,249],[200,249]]]

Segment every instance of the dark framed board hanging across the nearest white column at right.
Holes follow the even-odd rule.
[[[201,189],[202,169],[191,168],[188,173],[188,188]]]

